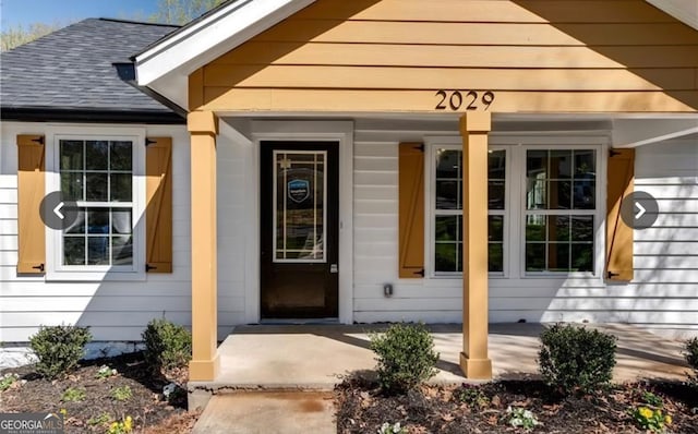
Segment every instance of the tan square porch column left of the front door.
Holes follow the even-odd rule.
[[[218,118],[212,111],[186,117],[191,134],[192,209],[192,361],[189,378],[209,382],[218,360],[216,249],[216,135]]]

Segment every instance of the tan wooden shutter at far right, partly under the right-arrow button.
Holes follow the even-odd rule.
[[[633,228],[621,218],[623,201],[633,193],[635,149],[611,149],[606,191],[606,278],[633,280]]]

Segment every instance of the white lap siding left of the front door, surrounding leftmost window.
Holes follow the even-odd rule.
[[[149,136],[171,136],[173,273],[147,275],[145,281],[45,281],[17,277],[16,144],[20,133],[43,133],[44,124],[4,123],[0,143],[0,341],[26,341],[39,325],[88,325],[96,340],[140,340],[148,321],[165,316],[191,325],[190,148],[183,126],[148,126]],[[80,132],[80,129],[75,129]],[[219,146],[219,218],[242,221],[241,158]],[[239,227],[239,225],[234,225]],[[239,231],[220,231],[219,331],[242,323],[244,291]]]

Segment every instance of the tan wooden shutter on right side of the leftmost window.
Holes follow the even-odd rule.
[[[146,174],[146,270],[172,273],[172,138],[148,137]]]

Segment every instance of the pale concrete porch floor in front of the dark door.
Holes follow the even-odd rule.
[[[639,378],[681,379],[688,370],[682,343],[629,325],[588,325],[618,338],[615,382]],[[190,383],[190,391],[205,394],[240,389],[330,390],[341,376],[373,370],[369,331],[376,325],[260,325],[239,326],[218,348],[220,373],[214,382]],[[465,381],[459,361],[461,326],[431,325],[441,353],[435,384]],[[490,325],[490,358],[494,379],[537,375],[540,324]]]

